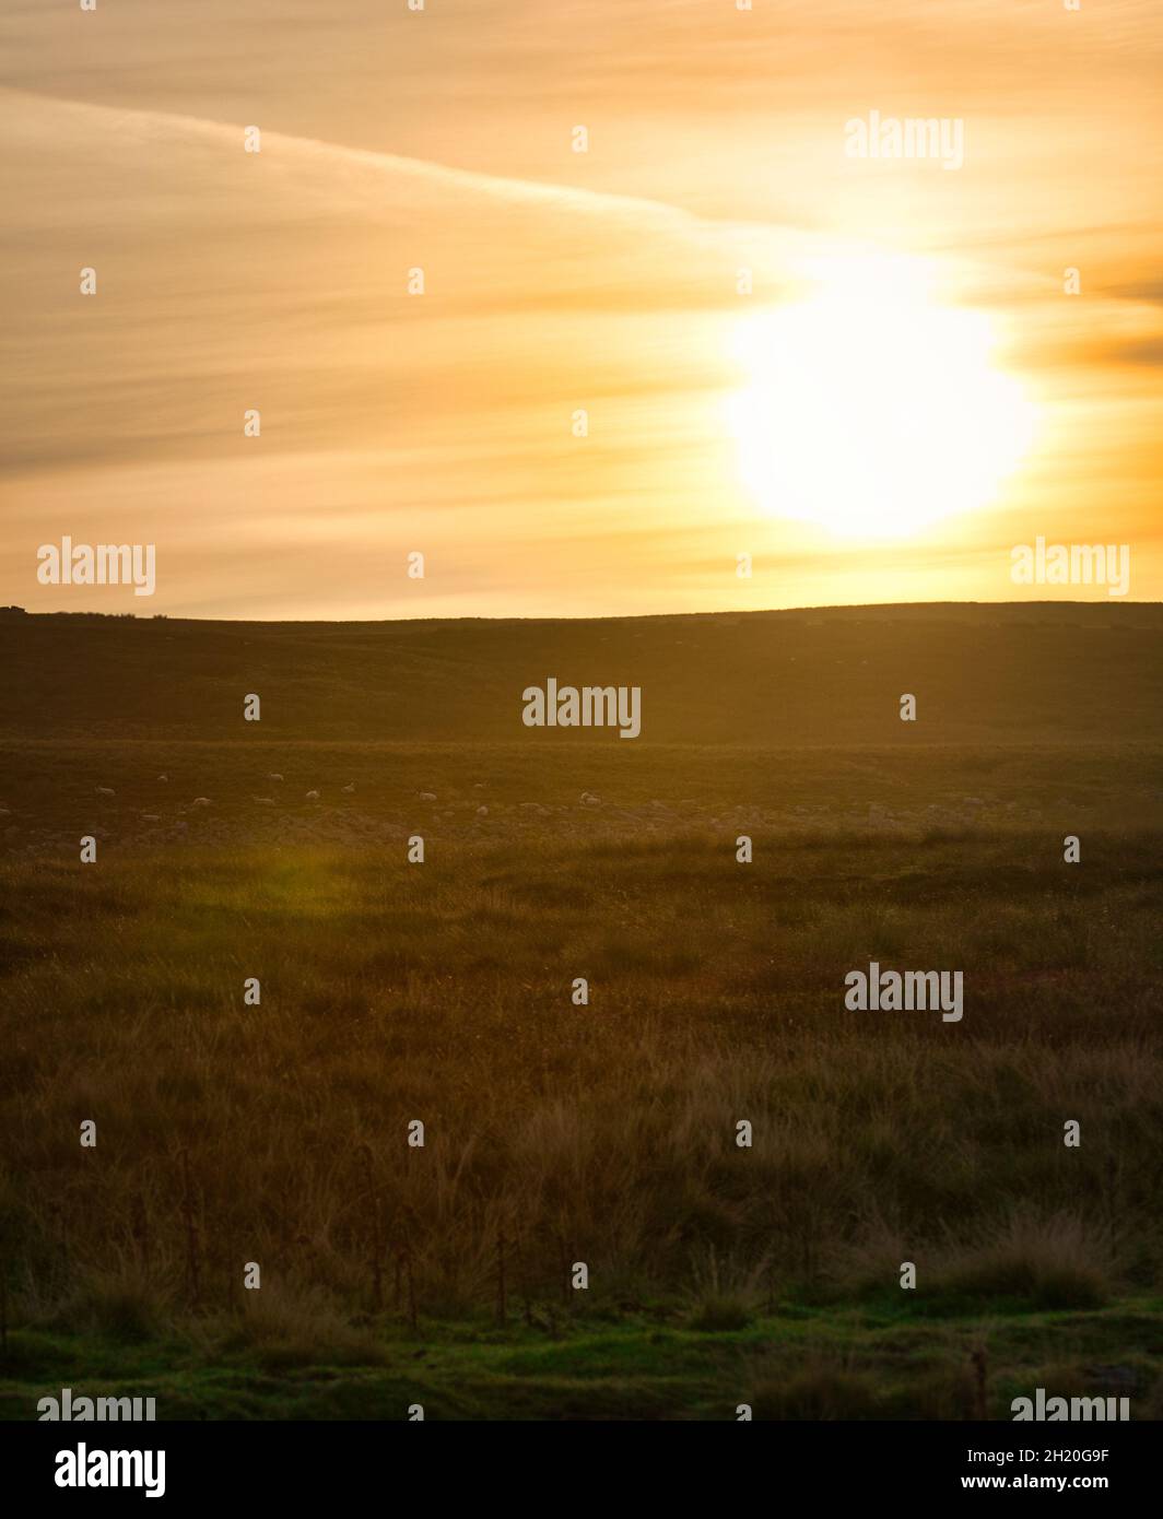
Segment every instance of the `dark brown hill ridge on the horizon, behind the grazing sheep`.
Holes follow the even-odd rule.
[[[1157,741],[1163,606],[394,623],[0,617],[8,738],[619,744],[614,731],[523,728],[521,691],[549,676],[642,687],[634,747]],[[261,696],[260,725],[242,718],[249,691]],[[906,691],[915,725],[897,715]]]

